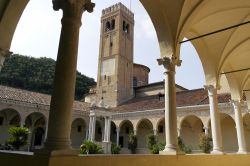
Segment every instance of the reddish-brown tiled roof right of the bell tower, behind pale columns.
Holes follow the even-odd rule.
[[[230,95],[218,95],[218,102],[229,102]],[[176,93],[177,107],[208,104],[208,94],[204,89],[194,89]],[[158,95],[132,99],[118,107],[112,108],[117,112],[132,112],[164,108],[164,100],[159,100]]]

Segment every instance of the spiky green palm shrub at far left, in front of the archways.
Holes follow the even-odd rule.
[[[28,143],[29,129],[26,127],[11,127],[8,130],[11,137],[7,140],[7,145],[11,145],[14,150],[19,150]]]

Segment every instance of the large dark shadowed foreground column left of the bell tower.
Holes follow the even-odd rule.
[[[43,150],[46,155],[76,155],[71,150],[70,131],[75,95],[79,29],[82,13],[91,12],[91,0],[53,0],[54,10],[63,10],[53,92],[50,102],[48,135]]]

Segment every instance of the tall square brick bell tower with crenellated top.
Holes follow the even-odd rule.
[[[122,3],[102,11],[97,101],[115,107],[133,97],[134,14]]]

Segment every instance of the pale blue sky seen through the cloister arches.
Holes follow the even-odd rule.
[[[130,4],[131,1],[131,4]],[[135,14],[134,62],[148,66],[149,82],[162,81],[164,68],[158,66],[160,49],[154,26],[138,0],[92,0],[93,13],[84,12],[80,29],[77,70],[96,80],[100,41],[101,11],[122,2]],[[54,11],[52,0],[31,0],[18,23],[11,51],[32,57],[56,60],[62,11]],[[205,84],[202,64],[191,43],[181,46],[182,65],[176,71],[176,83],[188,88],[202,88]]]

